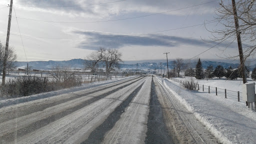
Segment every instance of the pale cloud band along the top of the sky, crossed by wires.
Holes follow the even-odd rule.
[[[107,2],[113,2],[112,0]],[[101,0],[18,0],[18,5],[37,6],[32,10],[47,11],[52,13],[67,13],[69,15],[104,18],[111,15],[118,15],[129,12],[138,13],[158,13],[168,10],[175,10],[178,8],[197,5],[200,3],[209,2],[212,0],[124,0],[119,2],[104,3]],[[96,5],[88,5],[96,4]],[[68,6],[68,5],[84,5],[75,7],[43,7],[43,6]],[[87,6],[86,6],[87,5]],[[171,11],[164,14],[184,15],[189,11],[190,14],[212,13],[214,7],[218,6],[217,2],[210,2],[207,4],[191,7],[187,9]],[[31,10],[31,7],[24,7]],[[94,17],[95,18],[95,17]]]

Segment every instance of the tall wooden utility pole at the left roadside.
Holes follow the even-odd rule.
[[[7,36],[6,36],[6,44],[5,44],[5,51],[4,51],[4,58],[3,58],[2,85],[4,85],[4,84],[5,84],[6,63],[7,63],[7,57],[8,57],[9,36],[10,36],[11,12],[12,12],[12,0],[10,0],[10,9],[9,9],[9,18],[8,18],[8,27],[7,27]]]

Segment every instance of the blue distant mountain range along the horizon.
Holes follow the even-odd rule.
[[[168,67],[170,69],[172,69],[174,67],[173,64],[174,61],[168,61]],[[49,70],[52,69],[52,67],[59,65],[59,66],[68,66],[71,68],[77,68],[77,69],[82,69],[84,67],[84,59],[71,59],[71,60],[63,60],[63,61],[53,61],[53,60],[49,60],[49,61],[29,61],[28,62],[28,66],[31,67],[31,69],[42,69],[42,70]],[[196,65],[197,61],[193,61],[190,63],[189,67],[194,68]],[[17,67],[18,68],[26,68],[27,62],[24,61],[17,61],[16,62]],[[238,67],[239,64],[238,63],[227,63],[227,62],[217,62],[217,61],[207,61],[207,60],[203,60],[202,61],[202,67],[206,68],[208,65],[212,65],[213,67],[216,67],[217,65],[222,65],[224,68],[227,68],[228,66],[232,66],[232,67]],[[103,64],[100,64],[101,66],[103,66]],[[163,62],[160,66],[159,62],[142,62],[142,63],[138,63],[138,69],[160,69],[160,67],[162,68],[167,68],[167,62]],[[250,66],[251,68],[254,68],[255,65]],[[137,64],[120,64],[120,68],[122,69],[136,69],[137,68]]]

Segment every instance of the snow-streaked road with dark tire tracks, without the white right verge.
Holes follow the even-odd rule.
[[[217,143],[151,76],[0,108],[0,143]]]

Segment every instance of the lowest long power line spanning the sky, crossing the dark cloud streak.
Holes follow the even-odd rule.
[[[160,30],[160,31],[153,31],[153,32],[147,32],[147,33],[138,33],[138,34],[129,34],[129,35],[116,35],[116,36],[103,36],[103,37],[87,37],[87,39],[98,39],[98,38],[114,38],[114,37],[124,37],[124,36],[135,36],[135,35],[145,35],[145,34],[151,34],[151,33],[158,33],[158,32],[165,32],[165,31],[171,31],[171,30],[177,30],[177,29],[183,29],[183,28],[189,28],[189,27],[194,27],[194,26],[200,26],[204,24],[209,24],[209,23],[214,23],[218,21],[211,21],[211,22],[205,22],[202,24],[195,24],[195,25],[190,25],[190,26],[184,26],[184,27],[179,27],[179,28],[172,28],[172,29],[166,29],[166,30]],[[12,35],[19,35],[19,34],[13,34]],[[35,38],[47,38],[47,39],[77,39],[77,38],[61,38],[61,37],[41,37],[41,36],[29,36],[29,35],[22,35],[26,37],[35,37]]]

